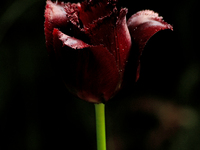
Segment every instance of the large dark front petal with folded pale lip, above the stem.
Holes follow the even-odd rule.
[[[120,85],[115,58],[107,48],[88,45],[58,29],[53,36],[58,67],[67,88],[89,102],[109,100]]]

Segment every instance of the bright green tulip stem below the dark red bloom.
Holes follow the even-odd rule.
[[[95,104],[97,150],[106,150],[105,105]]]

